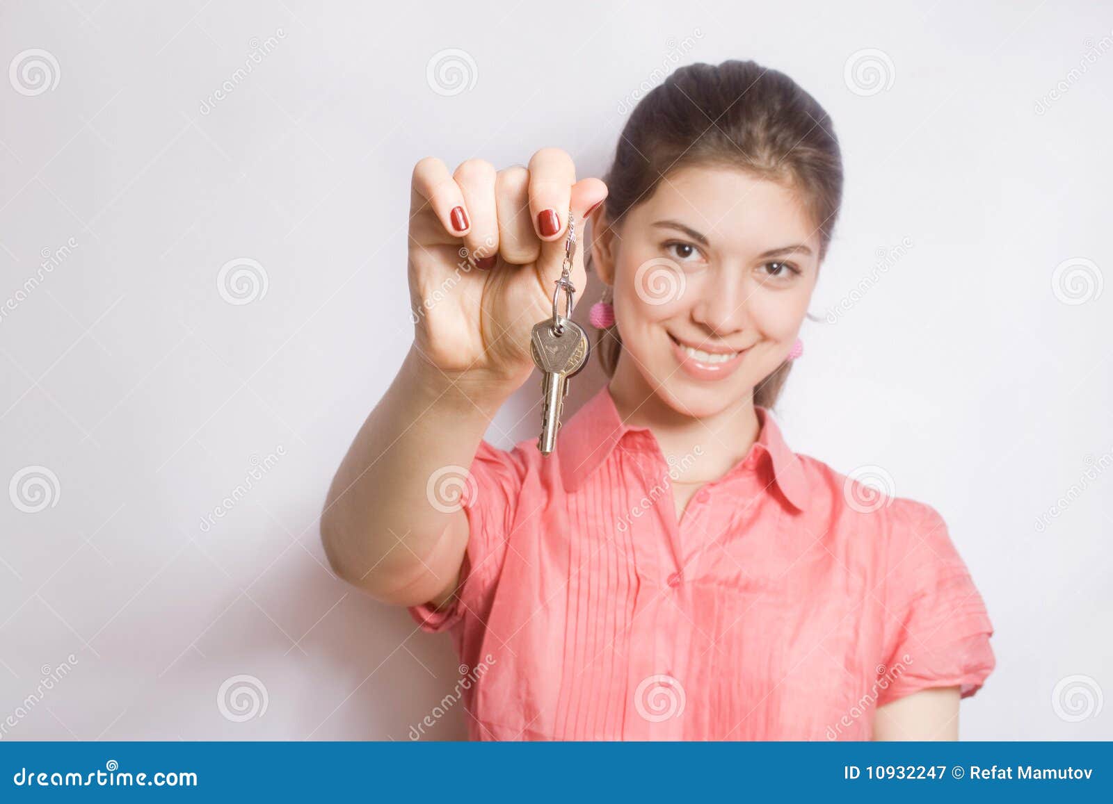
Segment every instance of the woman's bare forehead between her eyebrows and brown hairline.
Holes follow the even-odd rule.
[[[644,225],[678,220],[711,245],[767,247],[804,242],[818,250],[819,234],[801,198],[782,183],[738,168],[686,166],[666,175],[641,208]]]

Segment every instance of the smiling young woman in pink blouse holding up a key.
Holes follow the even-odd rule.
[[[993,628],[943,519],[769,413],[841,187],[823,108],[740,61],[647,95],[605,182],[553,148],[417,163],[413,346],[322,534],[342,577],[451,629],[472,738],[956,738]],[[482,438],[533,373],[569,210],[610,381],[551,455],[504,451]]]

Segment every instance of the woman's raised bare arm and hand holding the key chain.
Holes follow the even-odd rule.
[[[559,231],[542,234],[536,212],[582,216],[605,195],[598,179],[575,181],[571,157],[555,148],[534,153],[529,169],[499,173],[479,159],[454,173],[434,157],[414,166],[413,346],[348,448],[321,515],[325,553],[342,578],[384,603],[451,599],[469,519],[459,505],[444,505],[453,500],[436,486],[467,472],[491,418],[533,371],[530,334],[552,315],[548,288],[561,272],[568,226],[564,215]],[[578,287],[587,284],[580,251]],[[433,477],[442,469],[447,484]]]

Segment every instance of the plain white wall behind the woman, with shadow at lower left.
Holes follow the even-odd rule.
[[[1109,9],[235,6],[0,7],[0,67],[17,62],[0,79],[0,485],[19,477],[0,495],[4,738],[406,740],[455,682],[449,637],[332,577],[316,517],[412,337],[412,166],[559,146],[601,175],[639,88],[728,58],[794,77],[843,142],[811,312],[877,279],[805,325],[789,443],[883,467],[946,518],[996,626],[964,737],[1113,737]],[[18,69],[46,58],[30,49],[57,64],[47,86]],[[427,76],[449,49],[466,51],[461,86]],[[856,76],[863,60],[880,75]],[[249,304],[218,287],[237,258],[266,276]],[[581,377],[572,409],[601,381]],[[535,435],[536,387],[492,443]],[[266,691],[244,722],[217,703],[237,675]],[[462,714],[430,734],[462,736]]]

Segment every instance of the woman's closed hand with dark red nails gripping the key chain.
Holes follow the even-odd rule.
[[[530,331],[552,316],[569,209],[579,241],[572,284],[582,292],[583,220],[605,197],[599,179],[575,180],[571,157],[559,148],[542,148],[529,168],[498,172],[481,159],[454,173],[435,157],[418,161],[408,277],[421,356],[453,379],[522,385],[533,369]]]

